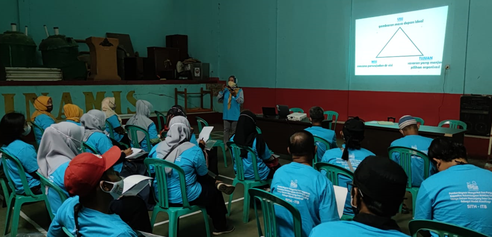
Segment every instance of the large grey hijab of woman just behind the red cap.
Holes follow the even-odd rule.
[[[39,172],[48,177],[60,165],[77,156],[82,148],[84,128],[71,122],[51,124],[43,134],[38,151]]]

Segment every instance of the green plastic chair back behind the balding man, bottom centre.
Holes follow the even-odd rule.
[[[287,209],[290,214],[293,216],[293,228],[294,228],[294,236],[301,237],[302,236],[302,220],[301,214],[296,207],[292,204],[287,203],[285,200],[260,189],[250,189],[248,191],[249,196],[251,196],[253,201],[258,200],[261,204],[261,210],[263,213],[263,226],[265,228],[265,234],[261,230],[260,218],[258,216],[258,208],[257,202],[254,203],[254,212],[256,214],[256,222],[258,226],[258,236],[265,237],[278,237],[278,226],[277,226],[277,218],[275,216],[275,206],[281,206]]]

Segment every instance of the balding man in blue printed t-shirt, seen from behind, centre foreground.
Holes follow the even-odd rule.
[[[302,236],[324,222],[340,221],[333,184],[326,176],[313,168],[317,147],[314,137],[307,131],[300,131],[290,137],[288,152],[292,161],[280,167],[271,181],[271,193],[290,202],[301,213]],[[288,191],[294,189],[295,191]],[[292,197],[292,193],[307,193],[306,196]],[[292,215],[285,208],[275,207],[279,225],[279,236],[293,236]]]

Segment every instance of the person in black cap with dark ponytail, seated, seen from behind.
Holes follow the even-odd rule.
[[[374,153],[360,147],[360,142],[364,139],[364,128],[364,122],[359,117],[347,120],[340,132],[343,140],[345,140],[345,144],[343,144],[341,149],[335,148],[326,151],[321,161],[354,172],[362,160],[374,155]],[[321,171],[321,173],[323,175],[326,174],[325,171]],[[338,176],[338,184],[341,187],[347,187],[347,184],[350,184],[350,182],[349,177],[343,175]],[[343,214],[354,215],[350,205],[350,195],[347,195]]]

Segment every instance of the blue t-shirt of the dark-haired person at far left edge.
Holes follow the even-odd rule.
[[[12,141],[9,145],[2,147],[5,152],[17,158],[24,168],[24,172],[26,174],[27,183],[29,184],[29,188],[40,185],[40,181],[38,179],[33,178],[29,173],[33,173],[38,171],[38,154],[32,145],[27,144],[21,140]],[[21,176],[19,175],[19,170],[17,170],[17,166],[12,160],[7,160],[7,168],[9,172],[9,176],[12,179],[15,186],[15,193],[23,194],[24,187],[21,183]]]

